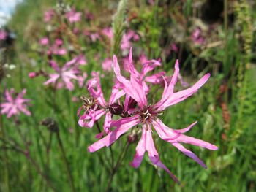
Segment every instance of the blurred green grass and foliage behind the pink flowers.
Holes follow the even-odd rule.
[[[73,25],[64,20],[44,23],[44,12],[50,8],[61,9],[60,4],[83,12],[83,19]],[[74,91],[54,91],[42,85],[45,77],[29,79],[28,74],[50,71],[48,55],[42,53],[39,39],[61,37],[69,53],[55,59],[64,64],[73,55],[86,55],[88,64],[83,66],[83,72],[89,76],[93,71],[105,74],[101,83],[108,98],[113,72],[104,72],[102,61],[111,58],[112,53],[120,58],[127,53],[117,52],[115,48],[110,50],[113,44],[108,39],[93,42],[89,35],[74,34],[71,29],[93,34],[111,26],[117,6],[118,1],[113,0],[24,0],[16,7],[5,26],[16,37],[1,43],[4,76],[1,76],[0,91],[2,94],[4,88],[18,91],[26,88],[27,97],[32,100],[29,107],[32,115],[20,115],[18,123],[1,116],[0,191],[72,191],[59,137],[75,191],[105,191],[110,176],[102,161],[110,159],[110,151],[105,148],[97,153],[87,152],[87,147],[96,140],[97,131],[78,126],[76,112],[82,102],[72,100],[74,96],[88,95],[86,88],[76,85]],[[168,174],[151,166],[147,158],[139,169],[130,167],[128,163],[132,161],[136,146],[132,144],[113,178],[110,191],[256,190],[255,10],[255,1],[249,0],[127,2],[123,15],[125,25],[120,33],[130,28],[139,35],[140,40],[132,43],[135,60],[141,52],[148,58],[161,58],[162,69],[171,75],[178,58],[181,75],[189,85],[211,72],[211,79],[195,96],[171,107],[162,118],[171,128],[184,128],[198,120],[189,136],[214,143],[219,150],[188,146],[206,162],[208,169],[203,169],[154,137],[163,163],[181,180],[178,185]],[[85,16],[89,13],[90,19]],[[120,26],[116,27],[118,30]],[[155,91],[157,94],[149,96],[157,100],[162,90]],[[59,134],[40,124],[45,118],[56,121]],[[99,123],[102,125],[102,121]],[[3,138],[9,142],[6,144]],[[113,145],[115,159],[126,139],[126,136],[121,137]],[[22,147],[23,151],[18,152],[12,145]]]

